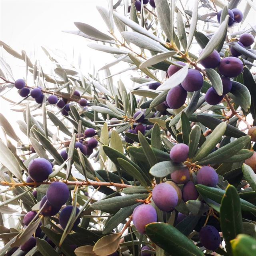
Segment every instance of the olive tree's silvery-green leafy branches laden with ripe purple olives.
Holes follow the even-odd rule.
[[[0,79],[28,138],[3,110],[0,256],[256,255],[255,6],[108,3],[97,6],[108,32],[68,31],[114,56],[104,77],[43,48],[56,66],[46,74],[0,42],[26,63],[15,79],[1,58]],[[113,79],[127,71],[132,88]],[[17,89],[20,102],[4,97]]]

